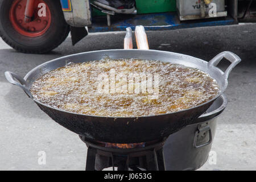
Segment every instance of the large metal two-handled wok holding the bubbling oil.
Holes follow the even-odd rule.
[[[183,64],[187,67],[201,69],[209,73],[220,86],[220,93],[212,100],[199,106],[177,111],[170,114],[151,115],[147,117],[97,117],[94,115],[76,114],[64,110],[49,107],[35,100],[30,92],[31,84],[40,76],[53,69],[64,67],[67,61],[81,63],[84,61],[100,60],[104,57],[112,59],[149,59],[161,60],[170,63]],[[232,64],[222,72],[217,68],[217,64],[222,58],[228,59]],[[139,143],[168,137],[181,128],[193,124],[195,118],[203,114],[225,91],[228,86],[228,76],[232,68],[241,61],[240,57],[232,52],[221,52],[212,60],[207,61],[196,57],[183,55],[180,53],[156,51],[156,50],[138,50],[138,49],[114,49],[105,51],[92,51],[77,53],[75,55],[60,57],[48,61],[32,69],[24,79],[15,73],[5,72],[5,76],[11,84],[18,85],[26,92],[28,97],[32,98],[36,104],[46,114],[61,126],[66,127],[79,135],[84,135],[88,140],[98,140],[111,143]]]

